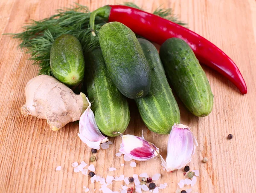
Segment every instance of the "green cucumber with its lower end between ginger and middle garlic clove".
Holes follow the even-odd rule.
[[[108,76],[100,48],[86,54],[87,94],[96,123],[107,136],[119,136],[130,122],[128,102]]]

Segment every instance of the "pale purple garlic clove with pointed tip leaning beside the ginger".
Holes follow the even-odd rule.
[[[102,135],[96,124],[93,111],[91,110],[91,103],[86,97],[89,106],[80,117],[78,136],[86,145],[93,149],[100,149],[100,144],[107,142],[108,137]]]

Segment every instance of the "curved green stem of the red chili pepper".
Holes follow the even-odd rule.
[[[91,33],[95,37],[95,17],[99,16],[102,17],[103,19],[108,20],[109,14],[110,14],[111,7],[110,6],[103,6],[100,7],[99,9],[94,10],[90,14],[90,27],[91,27]]]

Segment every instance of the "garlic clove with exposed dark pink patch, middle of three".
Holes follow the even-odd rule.
[[[152,159],[159,153],[159,149],[154,144],[146,141],[143,136],[138,137],[134,135],[122,135],[119,151],[138,161]]]

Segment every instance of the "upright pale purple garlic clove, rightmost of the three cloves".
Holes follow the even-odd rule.
[[[168,172],[178,170],[191,162],[196,146],[198,142],[188,126],[173,125],[168,140],[166,162],[161,156],[166,170]]]

